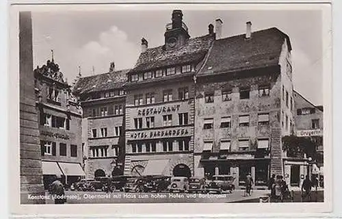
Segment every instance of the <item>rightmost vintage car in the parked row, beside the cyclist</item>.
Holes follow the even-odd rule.
[[[212,180],[207,183],[207,192],[217,192],[221,194],[224,191],[233,192],[235,177],[232,175],[214,175]]]

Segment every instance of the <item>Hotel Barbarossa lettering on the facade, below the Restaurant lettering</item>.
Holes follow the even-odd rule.
[[[170,129],[170,130],[153,130],[139,131],[131,133],[131,139],[148,139],[148,138],[163,138],[163,137],[181,137],[188,136],[190,131],[186,128]]]

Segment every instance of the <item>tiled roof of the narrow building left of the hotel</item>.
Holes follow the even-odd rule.
[[[116,70],[111,73],[81,77],[75,84],[73,93],[84,94],[121,88],[127,81],[126,73],[128,73],[129,70],[130,69]]]

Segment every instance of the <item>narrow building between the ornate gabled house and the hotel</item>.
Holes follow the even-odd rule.
[[[128,70],[81,77],[73,89],[83,109],[83,140],[87,177],[123,174],[124,110],[126,93],[122,89]]]

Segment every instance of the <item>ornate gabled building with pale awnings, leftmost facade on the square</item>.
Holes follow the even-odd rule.
[[[34,70],[44,188],[53,176],[71,184],[85,174],[81,168],[81,108],[53,58]]]

